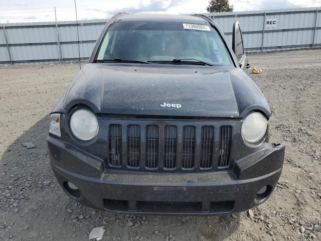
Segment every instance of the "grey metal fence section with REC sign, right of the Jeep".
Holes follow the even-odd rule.
[[[321,8],[207,14],[232,43],[232,26],[240,22],[247,52],[321,46]],[[267,21],[271,25],[267,25]],[[276,21],[273,24],[273,21]]]

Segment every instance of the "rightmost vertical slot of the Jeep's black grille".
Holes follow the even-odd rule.
[[[219,153],[219,167],[229,165],[230,152],[232,145],[232,127],[222,126],[220,129],[220,153]]]

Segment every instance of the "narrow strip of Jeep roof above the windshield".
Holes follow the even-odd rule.
[[[190,23],[207,24],[208,21],[203,18],[186,15],[165,15],[165,14],[133,14],[121,15],[115,22],[172,22],[172,23]]]

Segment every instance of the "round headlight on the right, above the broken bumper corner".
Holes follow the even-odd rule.
[[[246,116],[243,121],[242,137],[246,142],[256,144],[264,137],[266,130],[266,117],[260,112],[253,112]]]

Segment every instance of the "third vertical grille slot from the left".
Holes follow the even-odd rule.
[[[158,127],[146,126],[146,167],[158,165]]]

